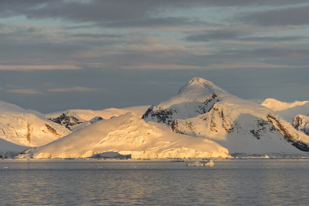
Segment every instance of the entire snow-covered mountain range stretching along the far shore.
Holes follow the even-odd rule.
[[[152,106],[44,115],[0,102],[0,138],[17,147],[33,147],[21,158],[84,158],[106,152],[132,158],[306,156],[308,111],[308,101],[267,99],[260,105],[195,77],[176,96]],[[5,152],[13,155],[24,149]]]

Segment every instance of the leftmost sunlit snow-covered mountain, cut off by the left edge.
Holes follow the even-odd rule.
[[[24,146],[41,146],[70,134],[44,114],[0,101],[0,138]]]

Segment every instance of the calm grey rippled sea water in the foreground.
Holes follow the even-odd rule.
[[[0,160],[0,205],[309,205],[309,160]]]

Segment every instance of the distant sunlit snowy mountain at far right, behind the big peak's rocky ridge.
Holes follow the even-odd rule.
[[[266,99],[261,105],[276,111],[277,114],[290,123],[298,114],[309,115],[309,101],[285,103],[275,99]]]

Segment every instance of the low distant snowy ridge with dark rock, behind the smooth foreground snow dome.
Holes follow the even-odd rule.
[[[58,123],[72,132],[80,130],[92,123],[99,120],[110,119],[113,116],[119,116],[127,112],[133,112],[142,117],[147,110],[147,106],[133,106],[127,108],[108,108],[103,110],[90,110],[90,109],[70,109],[66,111],[59,111],[46,114],[47,119]]]

